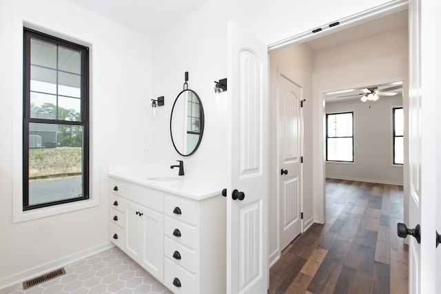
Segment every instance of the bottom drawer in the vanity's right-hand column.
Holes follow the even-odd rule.
[[[167,258],[164,259],[164,284],[173,293],[196,293],[194,275],[176,266]]]

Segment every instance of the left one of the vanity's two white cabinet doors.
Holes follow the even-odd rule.
[[[138,204],[125,203],[125,250],[136,262],[143,259],[144,223],[143,215],[139,215],[142,210]]]

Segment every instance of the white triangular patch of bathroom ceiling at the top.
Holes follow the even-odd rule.
[[[107,19],[152,37],[170,28],[207,0],[68,0]]]

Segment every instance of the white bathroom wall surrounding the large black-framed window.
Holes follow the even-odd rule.
[[[100,205],[13,223],[12,197],[21,197],[14,170],[21,170],[23,21],[90,44],[90,196]],[[107,166],[147,161],[141,148],[150,139],[152,44],[62,0],[0,1],[0,37],[1,288],[110,245]]]

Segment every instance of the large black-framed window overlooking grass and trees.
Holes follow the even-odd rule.
[[[89,48],[23,29],[23,210],[89,199]]]

